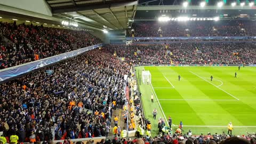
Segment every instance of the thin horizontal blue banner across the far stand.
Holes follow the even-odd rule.
[[[126,37],[126,40],[256,39],[256,36]]]

